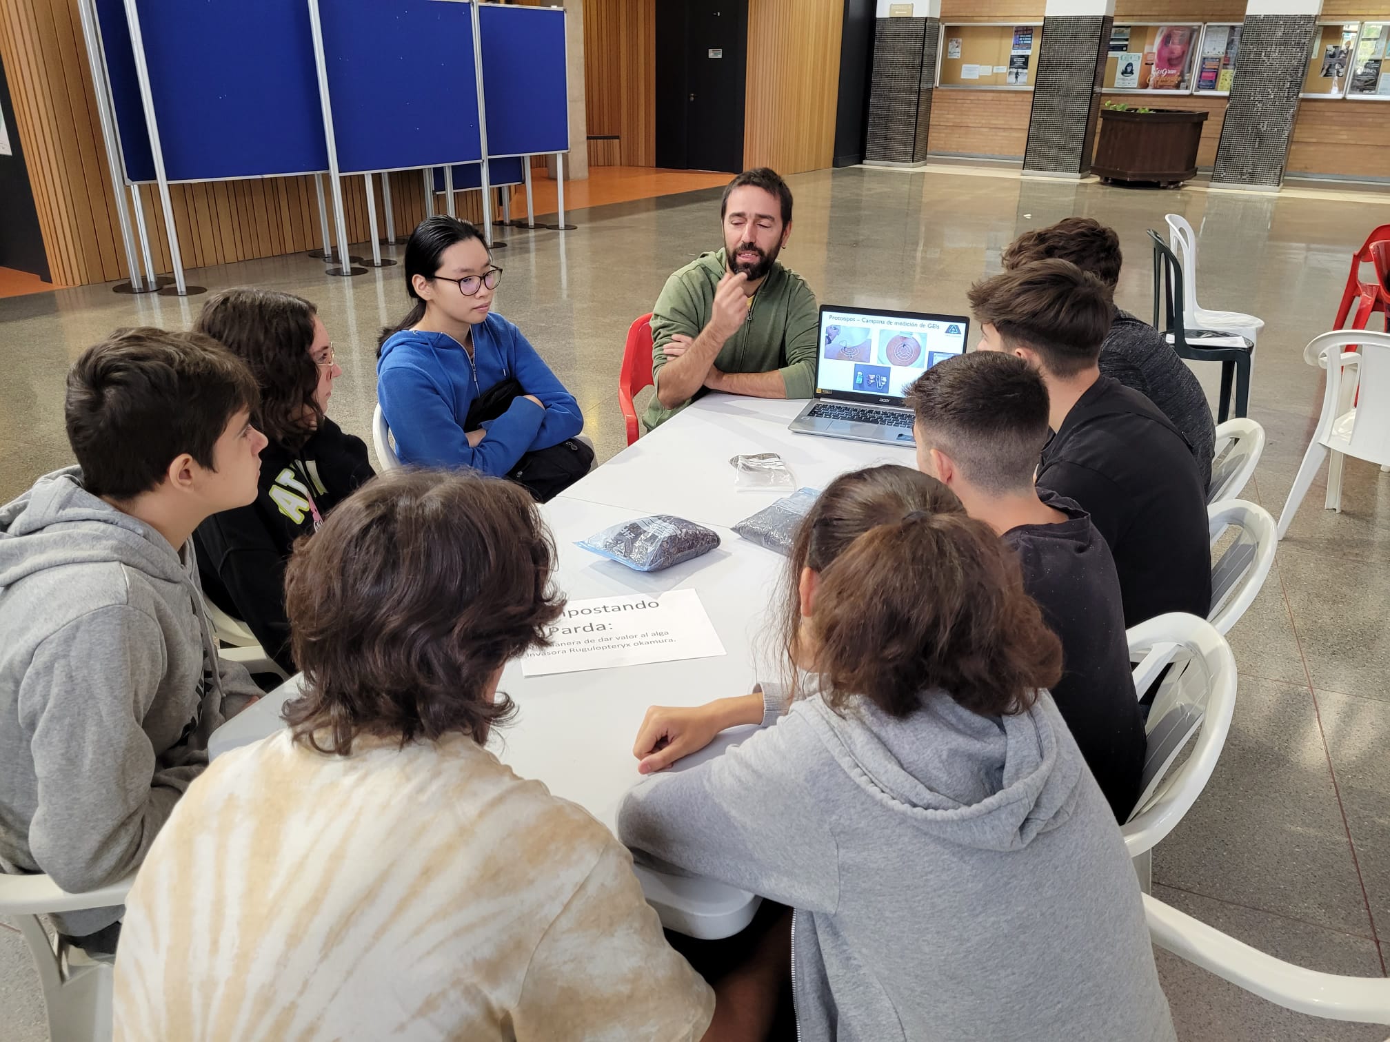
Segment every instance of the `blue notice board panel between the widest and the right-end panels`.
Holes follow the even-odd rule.
[[[320,0],[318,10],[341,174],[482,158],[468,4]]]

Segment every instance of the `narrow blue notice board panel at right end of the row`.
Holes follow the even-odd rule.
[[[564,11],[478,4],[489,156],[570,150]]]

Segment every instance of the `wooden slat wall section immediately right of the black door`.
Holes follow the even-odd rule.
[[[748,4],[744,165],[778,174],[834,161],[842,0]]]

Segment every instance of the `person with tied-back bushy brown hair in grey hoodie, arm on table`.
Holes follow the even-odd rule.
[[[941,490],[903,467],[826,489],[785,620],[813,678],[651,710],[644,772],[764,727],[632,789],[619,835],[795,910],[806,1042],[1172,1042],[1123,839],[1038,690],[1058,640],[994,532],[931,513]]]

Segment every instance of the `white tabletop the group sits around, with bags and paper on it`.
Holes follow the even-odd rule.
[[[641,777],[632,742],[648,707],[698,706],[742,695],[758,679],[759,663],[773,667],[776,620],[769,607],[780,603],[785,559],[741,539],[727,525],[788,490],[738,492],[728,457],[777,452],[791,465],[798,486],[815,488],[845,470],[913,463],[910,449],[792,435],[787,422],[802,404],[710,396],[541,507],[559,550],[556,584],[570,599],[694,589],[726,654],[531,678],[521,675],[520,661],[510,663],[502,689],[516,700],[518,713],[489,747],[517,774],[541,779],[555,795],[613,828],[623,795]],[[638,572],[574,545],[609,525],[656,513],[714,528],[720,547],[674,568]],[[293,685],[291,681],[218,728],[210,753],[215,757],[278,731],[279,710]],[[719,747],[745,731],[730,732]],[[712,747],[709,754],[714,752]],[[758,907],[753,895],[710,881],[645,870],[638,875],[666,925],[692,936],[728,936],[742,929]]]

